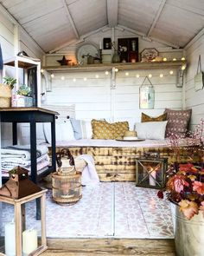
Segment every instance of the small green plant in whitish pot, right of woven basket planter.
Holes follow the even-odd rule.
[[[32,107],[33,98],[31,93],[31,89],[27,85],[22,84],[16,91],[17,107]]]

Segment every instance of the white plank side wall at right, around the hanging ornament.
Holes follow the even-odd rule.
[[[197,72],[198,58],[201,55],[201,66],[204,71],[204,34],[193,44],[186,48],[188,69],[186,75],[185,100],[186,107],[193,109],[191,127],[204,118],[204,89],[194,90],[194,75]]]

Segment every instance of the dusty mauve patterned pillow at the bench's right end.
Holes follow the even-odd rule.
[[[168,120],[166,137],[169,137],[172,134],[186,137],[192,109],[174,110],[166,108],[164,113],[167,113]]]

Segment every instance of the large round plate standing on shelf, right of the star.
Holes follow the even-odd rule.
[[[87,56],[98,56],[99,48],[94,43],[84,43],[76,51],[77,61],[81,65],[87,64]]]

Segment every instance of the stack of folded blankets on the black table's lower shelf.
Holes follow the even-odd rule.
[[[29,170],[31,167],[30,145],[15,145],[1,149],[2,176],[8,177],[9,171],[20,166]],[[37,145],[36,150],[37,174],[41,174],[49,165],[48,147]]]

